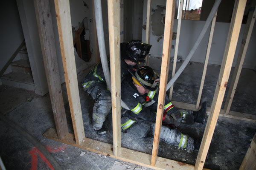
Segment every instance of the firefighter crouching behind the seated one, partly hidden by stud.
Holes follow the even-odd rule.
[[[138,63],[145,61],[145,57],[148,55],[151,45],[145,44],[140,40],[132,40],[128,43],[121,43],[120,48],[121,79],[123,79],[129,74],[128,68],[137,68]],[[102,125],[108,113],[111,111],[111,93],[107,87],[101,62],[95,65],[89,74],[87,74],[82,85],[84,91],[87,91],[95,101],[92,115],[93,129],[96,130],[98,135],[105,136],[107,130],[105,127],[102,127]]]

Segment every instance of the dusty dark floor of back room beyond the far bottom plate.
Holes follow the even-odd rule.
[[[156,57],[150,58],[150,66],[159,74],[161,71],[161,59]],[[172,64],[169,67],[169,80],[172,77]],[[182,63],[177,63],[176,71]],[[198,91],[201,83],[201,77],[204,64],[198,62],[190,62],[186,69],[180,74],[180,77],[174,83],[173,98],[174,101],[196,104]],[[201,101],[207,101],[211,105],[214,96],[220,66],[208,65],[207,73],[204,81]],[[227,90],[221,108],[223,109],[230,82],[233,76],[234,68],[231,69],[230,78],[227,84]],[[236,93],[230,108],[230,111],[241,113],[256,114],[256,71],[250,69],[242,69]],[[169,94],[169,93],[168,93]]]

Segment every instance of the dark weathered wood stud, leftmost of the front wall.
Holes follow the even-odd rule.
[[[34,4],[55,126],[58,138],[63,139],[68,133],[67,118],[61,90],[49,0],[34,0]]]

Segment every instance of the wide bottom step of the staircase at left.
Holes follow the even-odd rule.
[[[4,85],[9,85],[16,88],[24,88],[27,90],[35,90],[35,84],[32,75],[11,72],[1,77]]]

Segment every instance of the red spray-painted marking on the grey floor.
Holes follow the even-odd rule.
[[[46,146],[47,150],[51,153],[63,151],[63,150],[66,149],[66,147],[67,147],[67,145],[64,145],[64,146],[61,146],[61,147],[48,147],[48,146]],[[54,170],[54,168],[52,167],[50,162],[46,159],[44,154],[41,153],[40,150],[38,150],[37,147],[32,147],[32,150],[30,150],[29,153],[30,153],[31,158],[32,158],[32,161],[30,162],[31,163],[31,170],[37,170],[37,163],[38,163],[37,154],[41,157],[41,159],[47,164],[47,166],[51,170]]]

